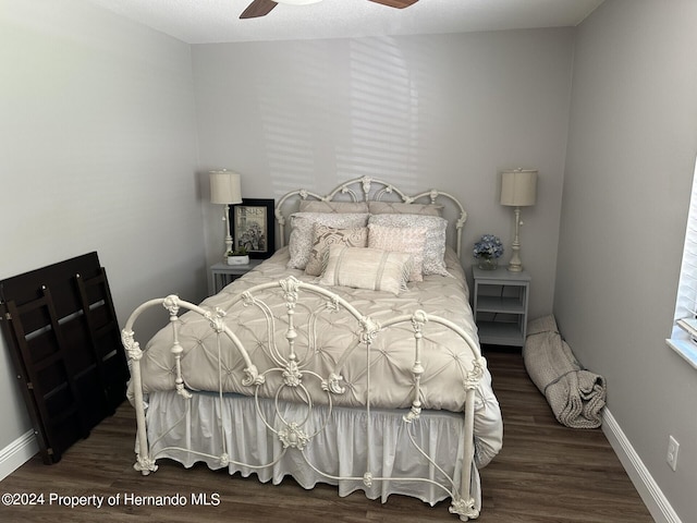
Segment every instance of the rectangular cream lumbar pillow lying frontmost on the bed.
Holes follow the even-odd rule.
[[[411,270],[412,256],[406,253],[331,245],[319,283],[399,294],[406,290]]]

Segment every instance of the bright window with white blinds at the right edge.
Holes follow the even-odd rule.
[[[668,344],[697,368],[697,165],[693,177],[674,319]]]

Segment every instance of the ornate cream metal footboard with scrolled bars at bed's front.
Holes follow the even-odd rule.
[[[277,292],[283,296],[285,304],[284,318],[276,318],[270,313],[270,307],[265,302],[265,292]],[[323,305],[320,309],[315,309],[308,316],[304,316],[302,325],[296,325],[296,312],[302,303],[302,299],[305,295],[320,296]],[[486,367],[486,361],[481,357],[481,353],[476,340],[474,340],[464,329],[458,327],[453,321],[429,315],[424,311],[415,311],[413,314],[403,314],[389,319],[381,318],[380,321],[375,318],[370,318],[360,314],[351,303],[342,299],[335,293],[328,291],[325,288],[314,285],[311,283],[302,282],[293,277],[289,277],[278,282],[265,283],[256,285],[246,292],[236,296],[233,302],[244,307],[255,307],[259,311],[259,314],[266,315],[269,323],[281,320],[284,325],[284,340],[281,340],[278,345],[276,342],[271,342],[268,346],[264,346],[262,350],[270,356],[273,365],[268,366],[266,363],[264,367],[257,366],[253,358],[254,351],[248,346],[244,346],[244,343],[240,337],[233,332],[223,321],[225,313],[223,311],[210,311],[203,308],[193,303],[188,303],[180,300],[175,295],[170,295],[162,299],[156,299],[148,301],[134,311],[129,318],[123,331],[122,341],[126,350],[126,354],[130,361],[131,368],[131,391],[133,397],[133,404],[136,411],[137,423],[137,461],[134,467],[147,475],[157,470],[156,460],[158,455],[152,454],[154,441],[150,441],[151,437],[148,436],[147,417],[146,417],[146,399],[147,393],[144,393],[143,376],[142,376],[142,358],[146,355],[147,350],[142,350],[139,343],[135,340],[134,324],[136,319],[148,308],[163,306],[169,312],[170,328],[172,329],[172,346],[171,346],[171,368],[174,374],[174,389],[179,394],[181,402],[187,402],[192,398],[192,388],[187,386],[186,373],[183,370],[182,357],[187,351],[196,350],[196,346],[186,348],[182,346],[180,341],[180,312],[193,312],[205,317],[215,332],[218,339],[218,362],[221,361],[221,356],[225,351],[237,351],[240,356],[244,360],[244,369],[242,370],[242,384],[247,389],[246,396],[255,398],[256,400],[256,413],[262,422],[262,426],[280,442],[280,454],[288,452],[296,452],[302,455],[307,465],[316,473],[325,476],[331,481],[360,481],[366,487],[370,487],[375,482],[386,481],[400,481],[400,482],[420,482],[432,488],[433,486],[443,489],[447,496],[452,498],[450,506],[450,512],[457,514],[462,521],[468,521],[479,515],[477,503],[473,498],[470,491],[472,486],[472,473],[473,473],[473,460],[474,460],[474,414],[475,414],[475,389],[482,378]],[[335,314],[342,311],[344,314],[350,314],[355,318],[355,342],[346,348],[345,353],[334,362],[333,366],[328,369],[325,375],[309,368],[306,365],[306,357],[308,354],[317,353],[311,346],[316,343],[316,323],[315,319],[321,314]],[[466,368],[462,376],[462,387],[465,389],[466,400],[464,409],[464,452],[463,461],[458,470],[461,470],[460,477],[452,477],[445,473],[442,469],[442,464],[436,462],[436,460],[429,454],[427,449],[419,446],[413,437],[409,436],[412,441],[412,448],[400,449],[400,452],[408,452],[409,459],[423,461],[426,460],[429,463],[429,467],[433,471],[427,477],[384,477],[378,471],[371,469],[371,453],[374,452],[374,439],[372,439],[372,424],[371,424],[371,398],[374,390],[378,390],[380,381],[370,376],[371,365],[370,355],[371,346],[377,337],[388,330],[395,328],[396,326],[404,325],[409,326],[412,332],[412,346],[413,346],[413,361],[409,369],[413,380],[413,398],[411,400],[411,406],[404,409],[402,416],[405,429],[409,430],[409,425],[414,424],[419,416],[421,416],[423,409],[423,390],[421,390],[421,376],[425,372],[423,365],[423,351],[424,339],[428,337],[428,330],[431,326],[440,326],[439,328],[449,329],[454,336],[460,338],[470,352],[470,358],[467,362]],[[310,344],[308,349],[305,346]],[[281,346],[284,345],[284,346]],[[258,349],[258,348],[257,348]],[[365,404],[360,408],[363,412],[368,415],[365,416],[367,424],[365,426],[366,431],[366,466],[363,475],[352,475],[344,477],[333,473],[322,472],[318,470],[314,463],[310,463],[307,459],[305,450],[311,445],[313,439],[316,438],[322,430],[327,428],[327,424],[330,422],[330,413],[334,405],[334,399],[341,394],[346,393],[346,384],[342,377],[342,367],[346,362],[346,358],[358,352],[365,354],[365,374],[369,384],[367,388],[367,398]],[[268,361],[265,361],[268,362]],[[225,391],[223,390],[223,374],[229,372],[224,369],[223,365],[219,363],[219,376],[218,390],[215,390],[217,396],[222,400]],[[372,379],[372,381],[371,381]],[[269,391],[269,384],[273,385],[276,390]],[[311,390],[321,389],[323,394],[320,401],[317,400],[317,394],[313,396]],[[284,414],[279,410],[279,398],[283,394],[288,394],[292,391],[295,401],[303,405],[307,415],[299,417],[285,418]],[[259,403],[261,399],[270,399],[276,401],[276,412],[269,415],[268,409],[261,409]],[[322,412],[328,413],[323,422],[319,424],[308,423],[309,412],[321,403]],[[219,418],[219,430],[224,430],[222,415]],[[411,435],[411,433],[409,433]],[[228,449],[225,448],[225,439],[221,438],[222,448],[219,455],[211,457],[207,452],[203,452],[197,449],[188,447],[181,447],[176,450],[186,452],[189,454],[200,455],[201,458],[215,458],[221,465],[227,465],[234,462],[237,465],[249,467],[249,470],[271,467],[279,461],[281,455],[272,457],[268,463],[239,463],[231,459]],[[412,458],[413,457],[413,458]]]

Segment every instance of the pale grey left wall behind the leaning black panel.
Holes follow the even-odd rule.
[[[97,251],[123,325],[205,291],[191,48],[78,0],[0,0],[0,279]],[[0,341],[0,449],[30,424]]]

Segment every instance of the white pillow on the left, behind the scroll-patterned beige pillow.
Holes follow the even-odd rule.
[[[368,224],[368,214],[294,212],[291,215],[291,238],[288,243],[290,269],[305,269],[314,243],[315,224],[335,229],[353,229]]]

